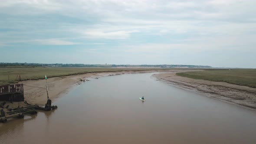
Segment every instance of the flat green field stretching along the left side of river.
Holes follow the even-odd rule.
[[[154,69],[154,68],[151,68]],[[113,71],[141,71],[151,69],[128,69],[128,68],[76,68],[76,67],[6,67],[0,68],[0,85],[16,83],[19,80],[37,80],[47,77],[82,74],[86,72],[113,72]],[[158,69],[154,69],[158,70]],[[18,78],[17,78],[18,75]],[[9,77],[9,80],[8,80]],[[17,78],[17,79],[16,79]]]

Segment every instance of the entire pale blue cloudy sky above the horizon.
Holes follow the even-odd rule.
[[[0,0],[0,62],[256,68],[256,0]]]

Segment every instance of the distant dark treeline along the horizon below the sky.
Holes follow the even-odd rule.
[[[7,63],[0,62],[0,67],[160,67],[160,68],[212,68],[207,65],[87,65],[87,64],[62,64],[62,63]]]

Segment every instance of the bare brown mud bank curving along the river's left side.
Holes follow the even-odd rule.
[[[132,74],[132,73],[150,73],[150,72],[187,72],[185,70],[148,70],[148,71],[117,71],[117,72],[92,72],[80,75],[60,76],[48,78],[49,98],[53,101],[61,95],[66,94],[75,85],[88,82],[86,80],[98,79],[105,76]],[[46,74],[47,75],[47,74]],[[81,81],[82,80],[82,81]],[[84,81],[83,81],[84,80]],[[22,81],[24,85],[24,98],[30,104],[43,106],[47,100],[45,79]]]

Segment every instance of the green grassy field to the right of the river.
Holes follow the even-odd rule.
[[[256,88],[256,69],[204,70],[197,72],[180,72],[176,73],[176,75],[192,79],[227,82]]]

